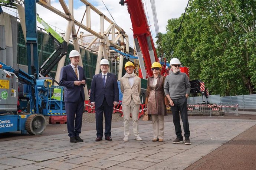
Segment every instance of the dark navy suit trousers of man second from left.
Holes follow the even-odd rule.
[[[96,119],[96,130],[97,137],[103,136],[103,113],[105,118],[105,137],[111,136],[111,122],[112,122],[112,113],[113,106],[109,106],[106,102],[106,98],[100,107],[95,107],[95,119]]]

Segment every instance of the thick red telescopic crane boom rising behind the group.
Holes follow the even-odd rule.
[[[137,56],[139,59],[142,76],[145,79],[146,73],[144,63],[142,60],[142,55],[145,61],[147,73],[152,76],[151,64],[157,59],[157,53],[155,51],[155,46],[153,43],[153,38],[150,33],[150,29],[147,22],[147,17],[143,8],[141,0],[121,0],[119,2],[122,6],[126,3],[128,8],[128,13],[131,17],[132,30],[135,41],[135,46],[137,50]]]

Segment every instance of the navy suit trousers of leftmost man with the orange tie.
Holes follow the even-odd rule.
[[[83,106],[84,101],[82,94],[80,94],[79,100],[77,102],[65,102],[69,137],[79,136],[81,133]]]

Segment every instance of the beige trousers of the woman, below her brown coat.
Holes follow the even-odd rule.
[[[154,139],[164,139],[164,115],[151,115]]]

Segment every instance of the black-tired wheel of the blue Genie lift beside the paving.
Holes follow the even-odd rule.
[[[41,135],[46,129],[45,117],[41,114],[32,114],[27,118],[25,126],[30,135]]]

